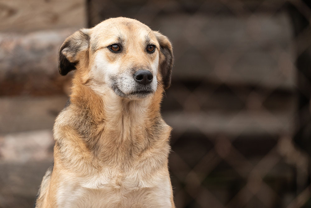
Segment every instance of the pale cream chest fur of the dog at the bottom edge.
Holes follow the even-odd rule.
[[[133,177],[135,175],[135,177]],[[72,175],[72,177],[74,177]],[[155,174],[144,180],[142,173],[115,174],[104,171],[93,177],[66,176],[57,192],[57,205],[63,208],[145,208],[171,207],[168,177]]]

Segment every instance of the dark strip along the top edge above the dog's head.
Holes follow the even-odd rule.
[[[288,3],[286,0],[243,0],[239,2],[219,0],[89,0],[87,13],[89,26],[96,25],[109,17],[136,18],[151,26],[159,14],[159,16],[168,16],[168,19],[181,13],[191,16],[198,13],[212,16],[251,16],[254,12],[274,14],[280,9],[284,9],[286,3]]]

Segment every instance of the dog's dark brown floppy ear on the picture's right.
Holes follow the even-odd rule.
[[[172,67],[174,62],[173,47],[169,39],[158,31],[154,31],[160,44],[160,73],[162,74],[163,88],[167,89],[171,85]]]

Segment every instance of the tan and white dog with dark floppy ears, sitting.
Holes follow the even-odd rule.
[[[75,70],[53,127],[54,162],[35,208],[175,207],[168,170],[171,127],[160,103],[171,83],[169,39],[118,17],[69,36],[59,73]]]

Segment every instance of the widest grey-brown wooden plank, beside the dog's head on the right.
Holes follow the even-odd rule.
[[[295,87],[295,53],[286,13],[252,18],[181,14],[160,16],[153,25],[173,42],[176,79]]]

